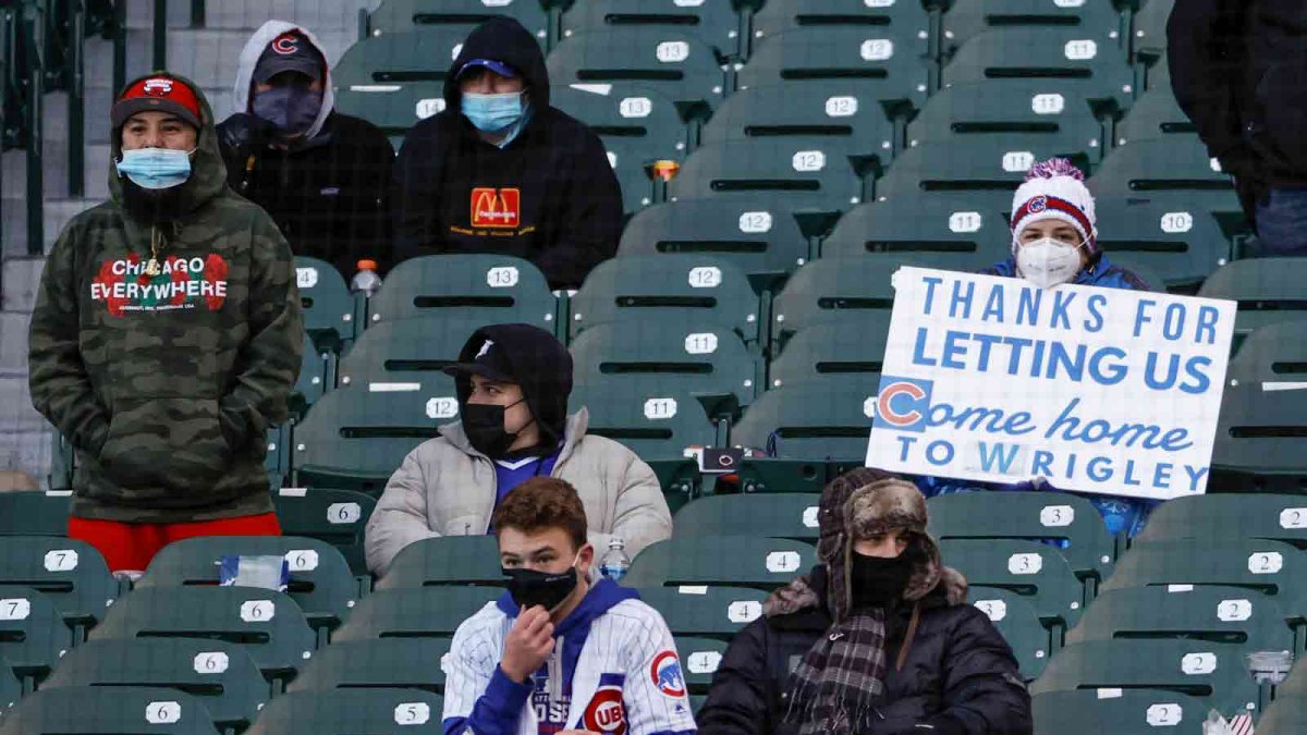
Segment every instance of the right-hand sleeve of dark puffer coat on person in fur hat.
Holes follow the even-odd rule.
[[[963,609],[944,651],[944,711],[927,723],[938,735],[1029,735],[1030,693],[1012,647],[983,612]]]

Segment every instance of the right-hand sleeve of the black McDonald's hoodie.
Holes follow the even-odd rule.
[[[608,163],[604,144],[593,132],[586,132],[586,143],[574,158],[562,197],[562,228],[536,260],[554,289],[580,288],[595,265],[617,252],[617,241],[622,237],[621,186]]]

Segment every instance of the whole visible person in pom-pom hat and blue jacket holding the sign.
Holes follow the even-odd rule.
[[[1151,290],[1136,273],[1112,264],[1098,247],[1094,195],[1085,175],[1065,158],[1035,163],[1012,200],[1012,258],[982,273],[1019,277],[1048,289],[1060,284]],[[1044,490],[1048,483],[983,485],[980,483],[923,477],[927,496],[983,489]],[[1131,536],[1144,528],[1157,502],[1111,496],[1090,496],[1111,534]]]

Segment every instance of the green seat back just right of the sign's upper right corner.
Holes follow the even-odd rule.
[[[1235,260],[1212,273],[1199,296],[1239,302],[1234,324],[1238,343],[1266,324],[1307,320],[1303,279],[1307,279],[1303,258]]]

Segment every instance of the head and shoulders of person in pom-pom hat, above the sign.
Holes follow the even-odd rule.
[[[982,272],[1026,279],[1039,288],[1074,282],[1151,290],[1103,255],[1097,224],[1094,195],[1080,169],[1065,158],[1035,163],[1012,197],[1012,258]]]

